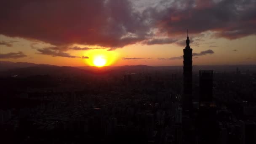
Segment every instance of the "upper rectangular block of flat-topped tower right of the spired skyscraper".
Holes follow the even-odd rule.
[[[199,71],[199,102],[200,105],[211,104],[213,100],[213,71],[200,70]]]

